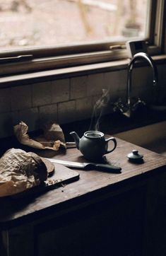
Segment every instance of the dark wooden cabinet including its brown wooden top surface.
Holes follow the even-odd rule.
[[[156,252],[163,235],[159,205],[166,158],[137,147],[144,163],[130,163],[126,155],[134,145],[117,141],[117,152],[107,156],[119,163],[121,174],[80,171],[80,180],[63,188],[30,199],[1,199],[0,255],[162,256]],[[79,157],[77,149],[59,156]]]

